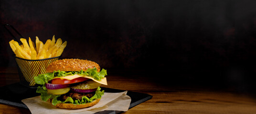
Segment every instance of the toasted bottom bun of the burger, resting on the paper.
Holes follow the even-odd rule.
[[[58,108],[62,109],[81,109],[81,108],[86,108],[86,107],[91,107],[95,104],[97,104],[100,101],[100,99],[95,99],[91,103],[86,103],[86,104],[68,104],[68,103],[59,103],[56,105]]]

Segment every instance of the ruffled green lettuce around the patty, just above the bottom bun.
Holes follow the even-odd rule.
[[[65,101],[59,101],[57,98],[61,95],[49,95],[47,94],[47,89],[44,90],[42,87],[38,87],[36,93],[41,94],[41,99],[43,101],[47,101],[48,99],[53,99],[52,104],[55,106],[56,104],[59,103],[71,103],[71,104],[86,104],[86,103],[91,103],[95,99],[100,99],[102,95],[104,95],[104,90],[100,91],[100,87],[97,88],[95,95],[93,95],[91,98],[88,98],[86,96],[83,96],[81,101],[80,100],[73,100],[71,97],[68,97]]]

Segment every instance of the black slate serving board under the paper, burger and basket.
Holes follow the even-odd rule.
[[[125,91],[125,90],[112,89],[112,88],[106,88],[106,87],[101,87],[101,90],[104,90],[105,92],[108,92],[108,93],[119,93],[119,92]],[[28,88],[26,86],[21,85],[20,83],[1,86],[0,91],[1,91],[0,103],[10,104],[14,106],[23,107],[23,108],[28,108],[28,107],[21,102],[22,99],[40,95],[36,93],[36,88]],[[131,97],[131,103],[130,103],[129,109],[152,98],[151,95],[139,93],[139,92],[132,92],[132,91],[128,91],[127,95]],[[97,112],[96,114],[118,114],[121,112],[122,111],[102,111],[102,112]]]

